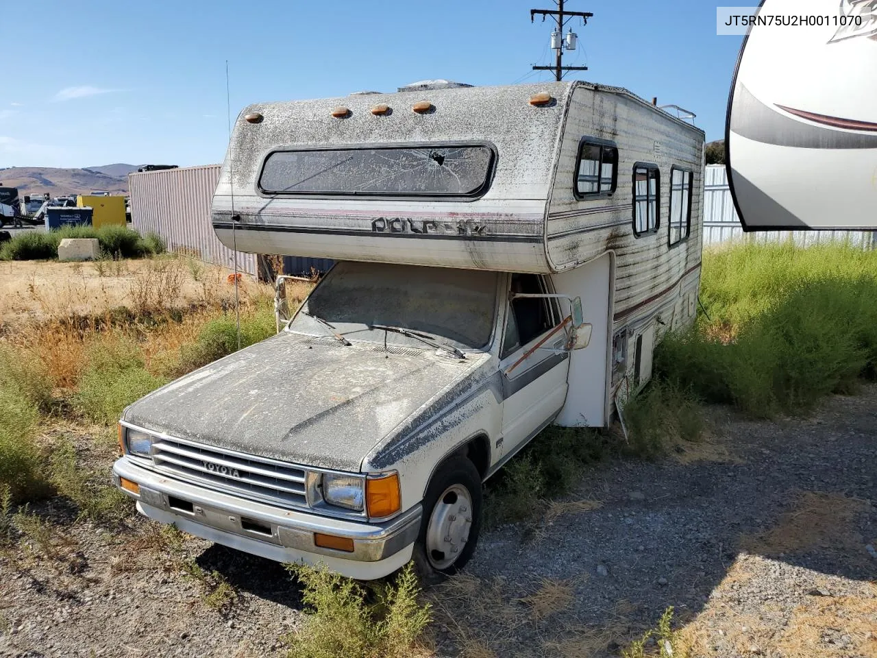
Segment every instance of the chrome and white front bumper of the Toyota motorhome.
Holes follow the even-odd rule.
[[[113,465],[119,486],[124,477],[139,485],[137,509],[151,519],[246,553],[279,562],[324,564],[343,576],[371,580],[410,561],[420,529],[421,506],[384,523],[330,519],[289,510],[182,482],[122,457]],[[318,547],[314,533],[353,540],[353,552]]]

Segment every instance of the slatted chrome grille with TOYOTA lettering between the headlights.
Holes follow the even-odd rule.
[[[156,468],[246,497],[306,507],[304,469],[162,437],[153,443]]]

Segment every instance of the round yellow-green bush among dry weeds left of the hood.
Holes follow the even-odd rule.
[[[165,383],[166,379],[146,370],[135,343],[111,336],[90,350],[75,404],[91,420],[110,425],[128,404]]]

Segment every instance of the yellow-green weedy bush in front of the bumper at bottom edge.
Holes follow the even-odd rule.
[[[388,584],[356,581],[306,565],[286,565],[303,584],[310,616],[289,638],[289,658],[410,658],[431,622],[409,563]],[[368,588],[368,589],[367,589]],[[369,602],[369,599],[373,599]]]

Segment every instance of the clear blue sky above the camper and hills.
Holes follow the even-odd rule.
[[[695,111],[707,139],[724,111],[742,37],[716,35],[704,0],[567,0],[581,75]],[[40,0],[4,7],[0,167],[222,161],[246,104],[394,91],[447,78],[471,84],[550,79],[553,0]]]

